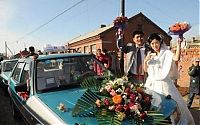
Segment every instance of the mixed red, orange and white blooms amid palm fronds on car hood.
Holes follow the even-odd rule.
[[[96,107],[117,112],[121,121],[128,118],[142,123],[151,107],[151,96],[144,93],[142,86],[131,84],[127,77],[108,81],[99,95],[103,97],[96,100]]]

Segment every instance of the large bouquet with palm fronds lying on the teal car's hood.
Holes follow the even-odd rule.
[[[161,113],[151,108],[152,96],[127,77],[102,82],[90,77],[81,86],[87,91],[77,101],[73,116],[95,116],[99,124],[107,125],[148,125],[165,121]]]

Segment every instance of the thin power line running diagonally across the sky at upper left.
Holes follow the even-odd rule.
[[[52,19],[50,19],[49,21],[47,21],[46,23],[40,25],[39,27],[35,28],[34,30],[32,30],[31,32],[28,32],[27,34],[25,34],[24,36],[20,37],[18,40],[19,41],[21,39],[24,39],[26,36],[29,36],[30,34],[38,31],[39,29],[41,29],[42,27],[46,26],[47,24],[49,24],[50,22],[52,22],[53,20],[55,20],[56,18],[58,18],[59,16],[63,15],[64,13],[66,13],[67,11],[71,10],[72,8],[76,7],[77,5],[79,5],[80,3],[84,2],[85,0],[80,0],[79,2],[75,3],[74,5],[72,5],[71,7],[69,7],[68,9],[65,9],[63,12],[59,13],[58,15],[56,15],[55,17],[53,17]],[[16,42],[15,41],[15,42]]]

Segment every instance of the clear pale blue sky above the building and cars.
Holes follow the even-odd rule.
[[[5,43],[13,54],[29,46],[62,46],[101,24],[112,24],[121,14],[120,3],[121,0],[0,0],[0,53],[5,53]],[[176,22],[189,22],[192,28],[184,37],[191,39],[200,34],[199,3],[200,0],[125,0],[125,16],[142,12],[166,32]]]

